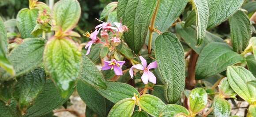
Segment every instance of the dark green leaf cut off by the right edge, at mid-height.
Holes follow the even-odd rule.
[[[249,55],[246,57],[247,67],[249,71],[256,77],[256,59],[253,55]]]

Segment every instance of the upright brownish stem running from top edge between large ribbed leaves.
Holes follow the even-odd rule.
[[[157,5],[155,7],[154,14],[151,18],[151,25],[149,26],[149,38],[148,38],[148,53],[149,54],[151,53],[151,45],[152,45],[151,43],[152,43],[152,35],[154,32],[154,22],[155,22],[155,18],[156,18],[159,6],[160,6],[160,0],[157,1]]]

